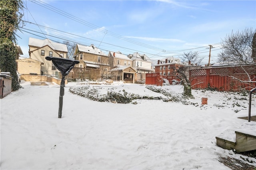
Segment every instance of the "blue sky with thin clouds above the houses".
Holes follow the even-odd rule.
[[[144,53],[152,60],[198,51],[218,61],[226,35],[256,28],[255,0],[23,0],[26,21],[18,45],[28,55],[29,37],[94,44],[123,54]],[[37,26],[36,24],[40,25]]]

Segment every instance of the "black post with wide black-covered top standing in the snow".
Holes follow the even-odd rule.
[[[60,57],[45,57],[46,60],[51,61],[55,65],[55,67],[60,71],[62,75],[62,79],[60,82],[60,98],[59,98],[59,112],[58,118],[62,116],[62,105],[63,105],[63,96],[64,96],[64,87],[65,87],[65,76],[72,70],[72,68],[79,63],[77,60],[66,59]]]

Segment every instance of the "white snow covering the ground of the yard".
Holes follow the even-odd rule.
[[[62,119],[58,119],[60,86],[54,83],[22,81],[23,89],[1,99],[1,169],[229,169],[219,156],[247,157],[216,146],[215,137],[242,127],[250,127],[247,131],[256,135],[255,122],[238,119],[248,116],[248,96],[193,90],[195,99],[189,101],[198,105],[162,100],[118,104],[91,101],[68,91],[90,86],[100,93],[112,89],[165,97],[146,85],[88,83],[66,85]],[[183,86],[161,88],[181,96]],[[208,105],[201,105],[202,97],[208,98]],[[256,159],[248,160],[256,166]]]

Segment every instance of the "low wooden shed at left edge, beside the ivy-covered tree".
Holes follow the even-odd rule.
[[[0,73],[0,99],[12,92],[12,79],[10,72]]]

